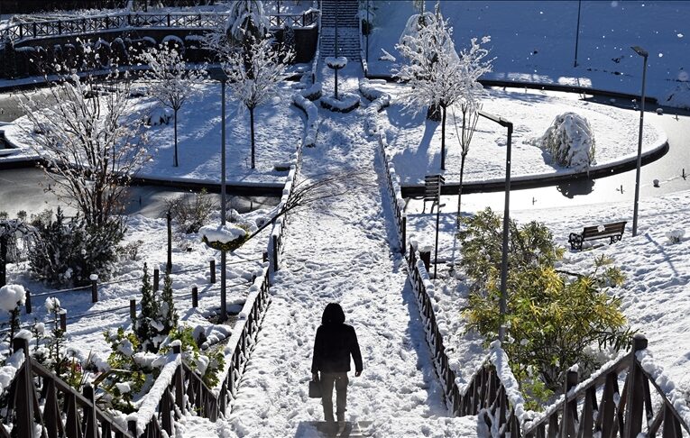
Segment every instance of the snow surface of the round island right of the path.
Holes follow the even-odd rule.
[[[388,120],[383,122],[389,143],[388,151],[403,185],[421,184],[424,176],[441,172],[441,124],[425,120],[424,112],[414,116],[400,105],[400,85],[380,86],[391,94]],[[489,90],[483,100],[483,111],[499,115],[514,123],[512,135],[511,175],[532,178],[537,175],[566,174],[581,169],[558,166],[549,154],[536,145],[558,114],[573,112],[584,116],[592,125],[595,144],[593,167],[610,166],[624,160],[635,160],[638,148],[639,114],[610,105],[580,100],[580,96],[543,91]],[[462,114],[455,126],[449,109],[446,122],[446,182],[460,179],[460,148],[457,132],[462,130]],[[645,118],[642,151],[656,150],[667,141],[666,134],[655,123],[656,115]],[[465,182],[504,178],[504,166],[497,157],[505,157],[506,131],[496,123],[480,118],[465,161]]]

